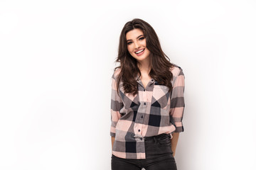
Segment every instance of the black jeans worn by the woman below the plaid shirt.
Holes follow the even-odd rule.
[[[145,138],[146,159],[124,159],[112,154],[112,170],[176,170],[171,151],[171,136],[161,134]]]

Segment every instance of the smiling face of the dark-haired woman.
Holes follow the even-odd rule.
[[[149,50],[146,48],[146,38],[142,30],[136,28],[130,30],[127,35],[127,49],[138,62],[148,60]]]

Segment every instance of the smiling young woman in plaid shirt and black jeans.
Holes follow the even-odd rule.
[[[184,74],[169,61],[149,23],[124,25],[112,74],[112,170],[177,169]]]

